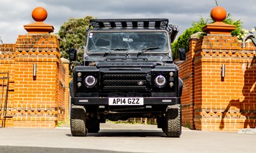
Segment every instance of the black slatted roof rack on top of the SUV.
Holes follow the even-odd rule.
[[[115,28],[156,28],[169,31],[171,40],[174,41],[179,28],[177,25],[168,25],[167,18],[124,18],[124,19],[91,19],[90,27],[93,29]]]

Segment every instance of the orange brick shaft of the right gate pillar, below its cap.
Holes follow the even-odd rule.
[[[231,120],[239,115],[239,98],[243,88],[239,42],[236,37],[211,34],[199,41],[202,42],[200,50],[195,52],[196,129],[232,131],[234,128],[227,125],[232,126]],[[225,77],[221,77],[223,64]],[[234,117],[227,112],[232,112]],[[229,123],[224,127],[224,122]]]

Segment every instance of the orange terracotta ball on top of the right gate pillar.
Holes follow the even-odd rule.
[[[222,22],[227,17],[227,11],[221,6],[216,6],[211,11],[211,18],[216,22]]]

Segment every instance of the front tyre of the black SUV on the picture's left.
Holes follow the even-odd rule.
[[[70,129],[72,136],[86,136],[86,111],[84,106],[73,105],[71,107]]]

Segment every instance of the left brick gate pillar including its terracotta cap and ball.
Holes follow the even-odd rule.
[[[44,24],[47,11],[33,10],[33,24],[24,25],[28,34],[15,44],[15,87],[10,115],[15,127],[54,128],[65,108],[65,69],[60,60],[58,36]],[[63,76],[63,77],[62,77]]]

